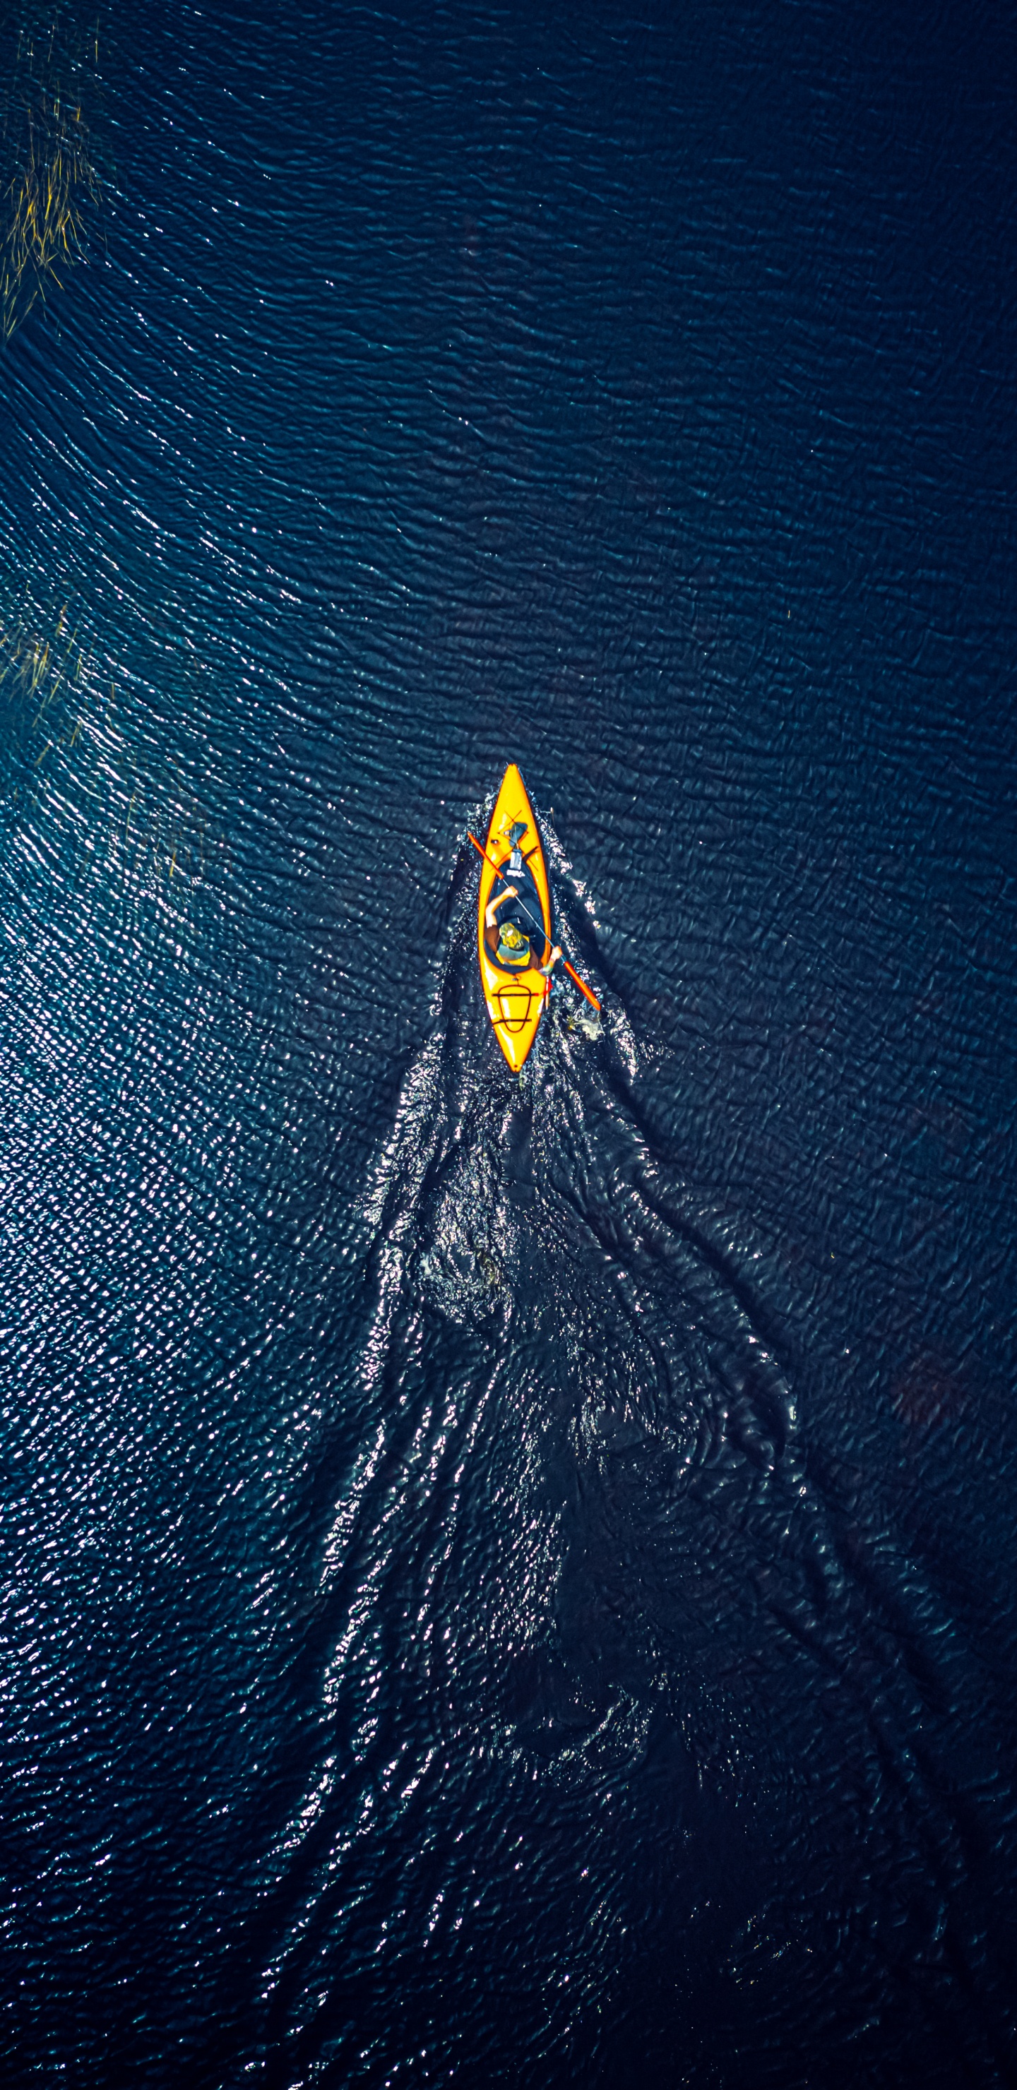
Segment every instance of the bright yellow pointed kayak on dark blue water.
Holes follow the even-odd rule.
[[[515,763],[494,800],[481,863],[477,947],[494,1037],[517,1074],[538,1035],[550,959],[550,890],[544,851]]]

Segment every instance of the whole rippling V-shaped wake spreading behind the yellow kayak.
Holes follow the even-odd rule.
[[[728,2040],[741,2084],[760,1969],[804,2048],[833,2038],[833,1967],[889,1998],[852,1921],[871,1852],[902,1881],[894,1927],[917,1923],[908,1879],[954,1862],[904,1741],[929,1597],[887,1547],[862,1557],[850,1490],[814,1478],[764,1258],[655,1141],[561,859],[555,905],[603,1024],[561,993],[511,1074],[462,865],[364,1200],[314,1766],[270,1866],[295,1910],[262,1965],[280,2082],[381,2084],[427,2052],[435,2084],[479,2090],[477,2054],[485,2086],[619,2084],[628,2038],[668,2080],[645,2027],[678,1983],[688,2054]]]

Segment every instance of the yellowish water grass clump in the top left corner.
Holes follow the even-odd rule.
[[[10,10],[0,29],[0,339],[80,259],[98,205],[90,117],[100,21]]]

